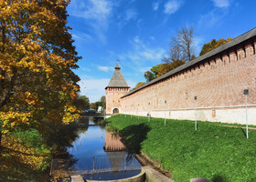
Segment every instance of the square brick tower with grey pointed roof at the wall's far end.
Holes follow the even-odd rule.
[[[129,92],[130,86],[127,85],[121,67],[116,63],[112,79],[106,89],[106,114],[121,112],[121,96]]]

